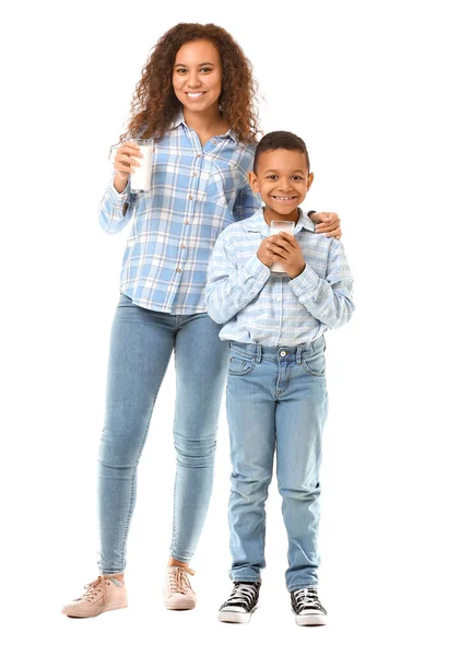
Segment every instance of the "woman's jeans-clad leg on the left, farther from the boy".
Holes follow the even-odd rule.
[[[173,351],[176,318],[172,315],[144,309],[121,296],[111,329],[99,446],[102,574],[123,572],[126,566],[138,462]]]

